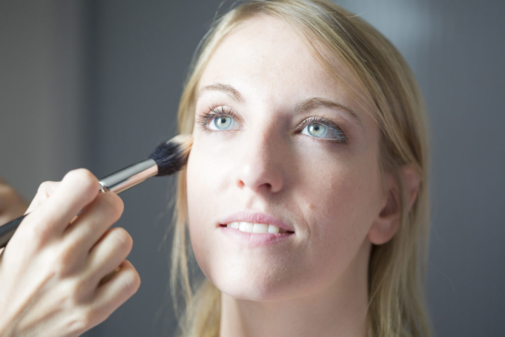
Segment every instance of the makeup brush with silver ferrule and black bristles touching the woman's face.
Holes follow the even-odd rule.
[[[186,165],[192,143],[193,138],[189,134],[179,134],[160,143],[147,159],[99,179],[100,192],[113,191],[119,194],[155,175],[176,173]],[[26,215],[0,226],[0,248],[7,245]]]

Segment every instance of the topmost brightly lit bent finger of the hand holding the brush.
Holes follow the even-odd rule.
[[[98,180],[85,169],[70,171],[63,177],[53,194],[43,203],[44,207],[37,208],[28,214],[20,225],[23,227],[27,222],[36,219],[35,229],[38,236],[61,234],[72,218],[93,201],[98,195]],[[36,214],[35,214],[36,213]],[[26,221],[28,219],[30,221]]]

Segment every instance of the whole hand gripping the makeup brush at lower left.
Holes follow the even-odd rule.
[[[125,260],[132,239],[109,229],[123,203],[98,187],[84,169],[40,185],[0,256],[0,335],[79,335],[137,291],[140,278]]]

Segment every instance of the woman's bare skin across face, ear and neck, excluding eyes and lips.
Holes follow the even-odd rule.
[[[294,113],[313,97],[350,108],[360,122],[343,109]],[[233,111],[231,130],[209,130],[215,124],[203,116],[215,106]],[[313,116],[337,124],[347,142],[304,134],[299,124]],[[221,335],[366,335],[371,244],[387,242],[397,220],[372,117],[289,26],[257,17],[225,37],[206,66],[193,136],[188,226],[201,270],[223,294]],[[294,233],[260,247],[239,242],[220,225],[244,211]]]

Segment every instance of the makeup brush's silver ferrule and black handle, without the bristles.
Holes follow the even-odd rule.
[[[98,180],[100,192],[112,191],[117,194],[158,174],[158,165],[153,159],[146,159]],[[0,248],[7,246],[12,235],[25,215],[0,226]]]

